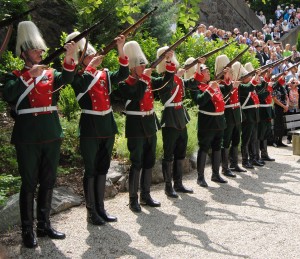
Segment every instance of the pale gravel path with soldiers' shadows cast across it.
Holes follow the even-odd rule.
[[[228,184],[196,184],[196,172],[184,177],[194,194],[171,199],[164,185],[152,188],[160,208],[134,214],[128,193],[106,201],[116,223],[86,223],[83,206],[56,215],[52,223],[65,240],[40,238],[35,250],[20,245],[20,231],[7,246],[12,258],[299,258],[300,157],[291,146],[269,147],[276,162],[239,173]],[[1,256],[0,256],[1,257]]]

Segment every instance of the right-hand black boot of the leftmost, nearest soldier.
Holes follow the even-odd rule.
[[[42,190],[39,187],[36,207],[38,237],[48,236],[51,239],[64,239],[66,235],[52,228],[50,223],[50,210],[52,202],[53,189]]]

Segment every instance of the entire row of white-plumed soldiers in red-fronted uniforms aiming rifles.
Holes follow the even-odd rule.
[[[76,35],[77,32],[70,34],[67,40]],[[39,65],[46,44],[35,24],[29,21],[19,23],[16,54],[24,60],[25,67],[7,76],[3,97],[16,109],[12,143],[16,147],[22,179],[20,215],[22,240],[26,247],[37,246],[33,229],[33,200],[38,184],[36,234],[53,239],[65,238],[64,233],[51,226],[49,218],[62,139],[57,113],[58,90],[62,85],[71,83],[81,107],[79,138],[85,167],[83,187],[87,220],[91,224],[103,225],[117,220],[106,212],[104,206],[106,174],[117,133],[109,97],[112,84],[118,84],[126,101],[125,136],[131,161],[129,208],[133,212],[140,212],[140,205],[161,205],[150,195],[156,159],[156,132],[160,128],[165,194],[177,198],[179,192],[193,193],[182,183],[188,141],[186,124],[189,122],[182,102],[185,90],[191,90],[199,108],[197,183],[200,186],[207,187],[204,171],[209,149],[212,150],[211,180],[218,183],[227,182],[219,173],[221,161],[225,176],[235,177],[234,171],[245,171],[238,165],[240,139],[244,168],[263,166],[263,160],[274,161],[267,152],[267,135],[273,116],[271,92],[283,84],[283,78],[272,87],[268,84],[269,71],[264,79],[257,73],[253,78],[240,82],[239,78],[248,71],[239,62],[223,71],[229,59],[221,55],[216,59],[216,73],[223,71],[224,76],[219,81],[210,81],[205,59],[199,59],[197,65],[185,71],[179,68],[173,51],[169,51],[157,66],[161,76],[152,77],[153,69],[146,68],[148,61],[139,44],[135,41],[125,43],[123,35],[115,40],[120,63],[117,71],[98,70],[103,56],[97,55],[93,46],[88,44],[82,70],[75,73],[78,56],[85,48],[83,40],[65,45],[66,55],[60,73]],[[160,48],[157,55],[166,49]],[[186,63],[193,60],[190,58]],[[248,66],[249,70],[253,69],[251,64],[245,67]],[[154,90],[159,92],[164,105],[160,122],[153,106]]]

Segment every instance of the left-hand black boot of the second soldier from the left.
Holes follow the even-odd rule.
[[[97,226],[104,225],[105,221],[98,215],[96,210],[94,177],[83,177],[83,190],[87,209],[87,222]]]

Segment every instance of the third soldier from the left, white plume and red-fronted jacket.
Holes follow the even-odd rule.
[[[119,84],[122,97],[127,100],[125,136],[130,152],[129,172],[129,208],[133,212],[141,212],[140,204],[159,207],[160,202],[152,199],[150,186],[152,168],[155,164],[156,131],[160,129],[154,112],[154,96],[152,89],[160,88],[170,80],[170,74],[164,78],[151,77],[152,69],[146,69],[148,61],[140,45],[136,41],[127,42],[125,54],[129,57],[129,77]],[[175,66],[167,65],[168,71],[175,71]],[[140,171],[140,204],[138,187]]]

